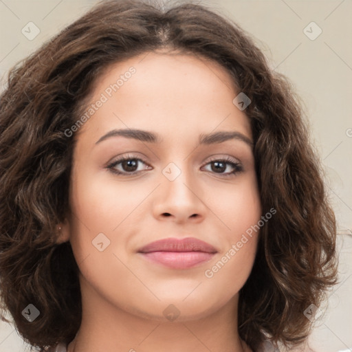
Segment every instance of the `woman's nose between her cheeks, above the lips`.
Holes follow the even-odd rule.
[[[161,175],[161,185],[153,202],[153,215],[159,220],[184,223],[203,221],[206,205],[205,195],[198,186],[195,176],[179,167],[181,173],[173,180]]]

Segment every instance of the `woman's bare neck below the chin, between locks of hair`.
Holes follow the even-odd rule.
[[[67,352],[250,352],[237,329],[238,295],[198,319],[142,317],[111,305],[81,283],[83,317]],[[165,321],[166,320],[166,321]]]

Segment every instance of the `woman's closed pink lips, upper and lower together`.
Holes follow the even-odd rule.
[[[217,250],[209,243],[188,237],[155,241],[145,245],[138,252],[149,261],[173,269],[187,269],[209,261]]]

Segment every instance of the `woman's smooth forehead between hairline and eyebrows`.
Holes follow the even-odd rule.
[[[237,94],[230,74],[218,63],[149,52],[105,69],[85,111],[103,103],[79,133],[93,137],[112,128],[138,128],[172,137],[208,133],[221,125],[251,137],[249,119],[232,102]]]

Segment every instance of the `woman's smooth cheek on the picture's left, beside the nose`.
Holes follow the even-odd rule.
[[[120,281],[131,276],[119,261],[125,261],[120,255],[126,241],[123,221],[141,200],[135,191],[123,184],[111,186],[88,168],[80,168],[76,175],[70,195],[70,242],[80,276],[84,284],[93,285],[99,292],[102,289],[100,294],[113,292],[116,275]]]

